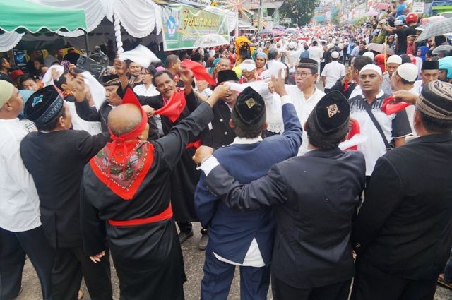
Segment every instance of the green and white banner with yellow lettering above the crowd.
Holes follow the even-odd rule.
[[[182,4],[162,6],[165,51],[215,47],[229,43],[227,16]]]

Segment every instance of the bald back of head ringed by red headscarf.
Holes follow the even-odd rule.
[[[108,114],[108,126],[115,136],[133,131],[141,123],[141,110],[134,104],[121,104]]]

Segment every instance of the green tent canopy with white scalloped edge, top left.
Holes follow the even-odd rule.
[[[86,31],[87,28],[82,9],[57,8],[25,0],[1,2],[0,30],[4,32]]]

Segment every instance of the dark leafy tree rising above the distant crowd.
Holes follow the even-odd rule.
[[[283,17],[291,18],[292,23],[304,25],[311,21],[317,0],[285,0],[280,8]]]

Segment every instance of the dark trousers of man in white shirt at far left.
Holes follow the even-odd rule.
[[[42,299],[52,298],[54,253],[42,227],[25,232],[9,232],[0,228],[0,299],[16,298],[22,285],[25,255],[40,279]]]

